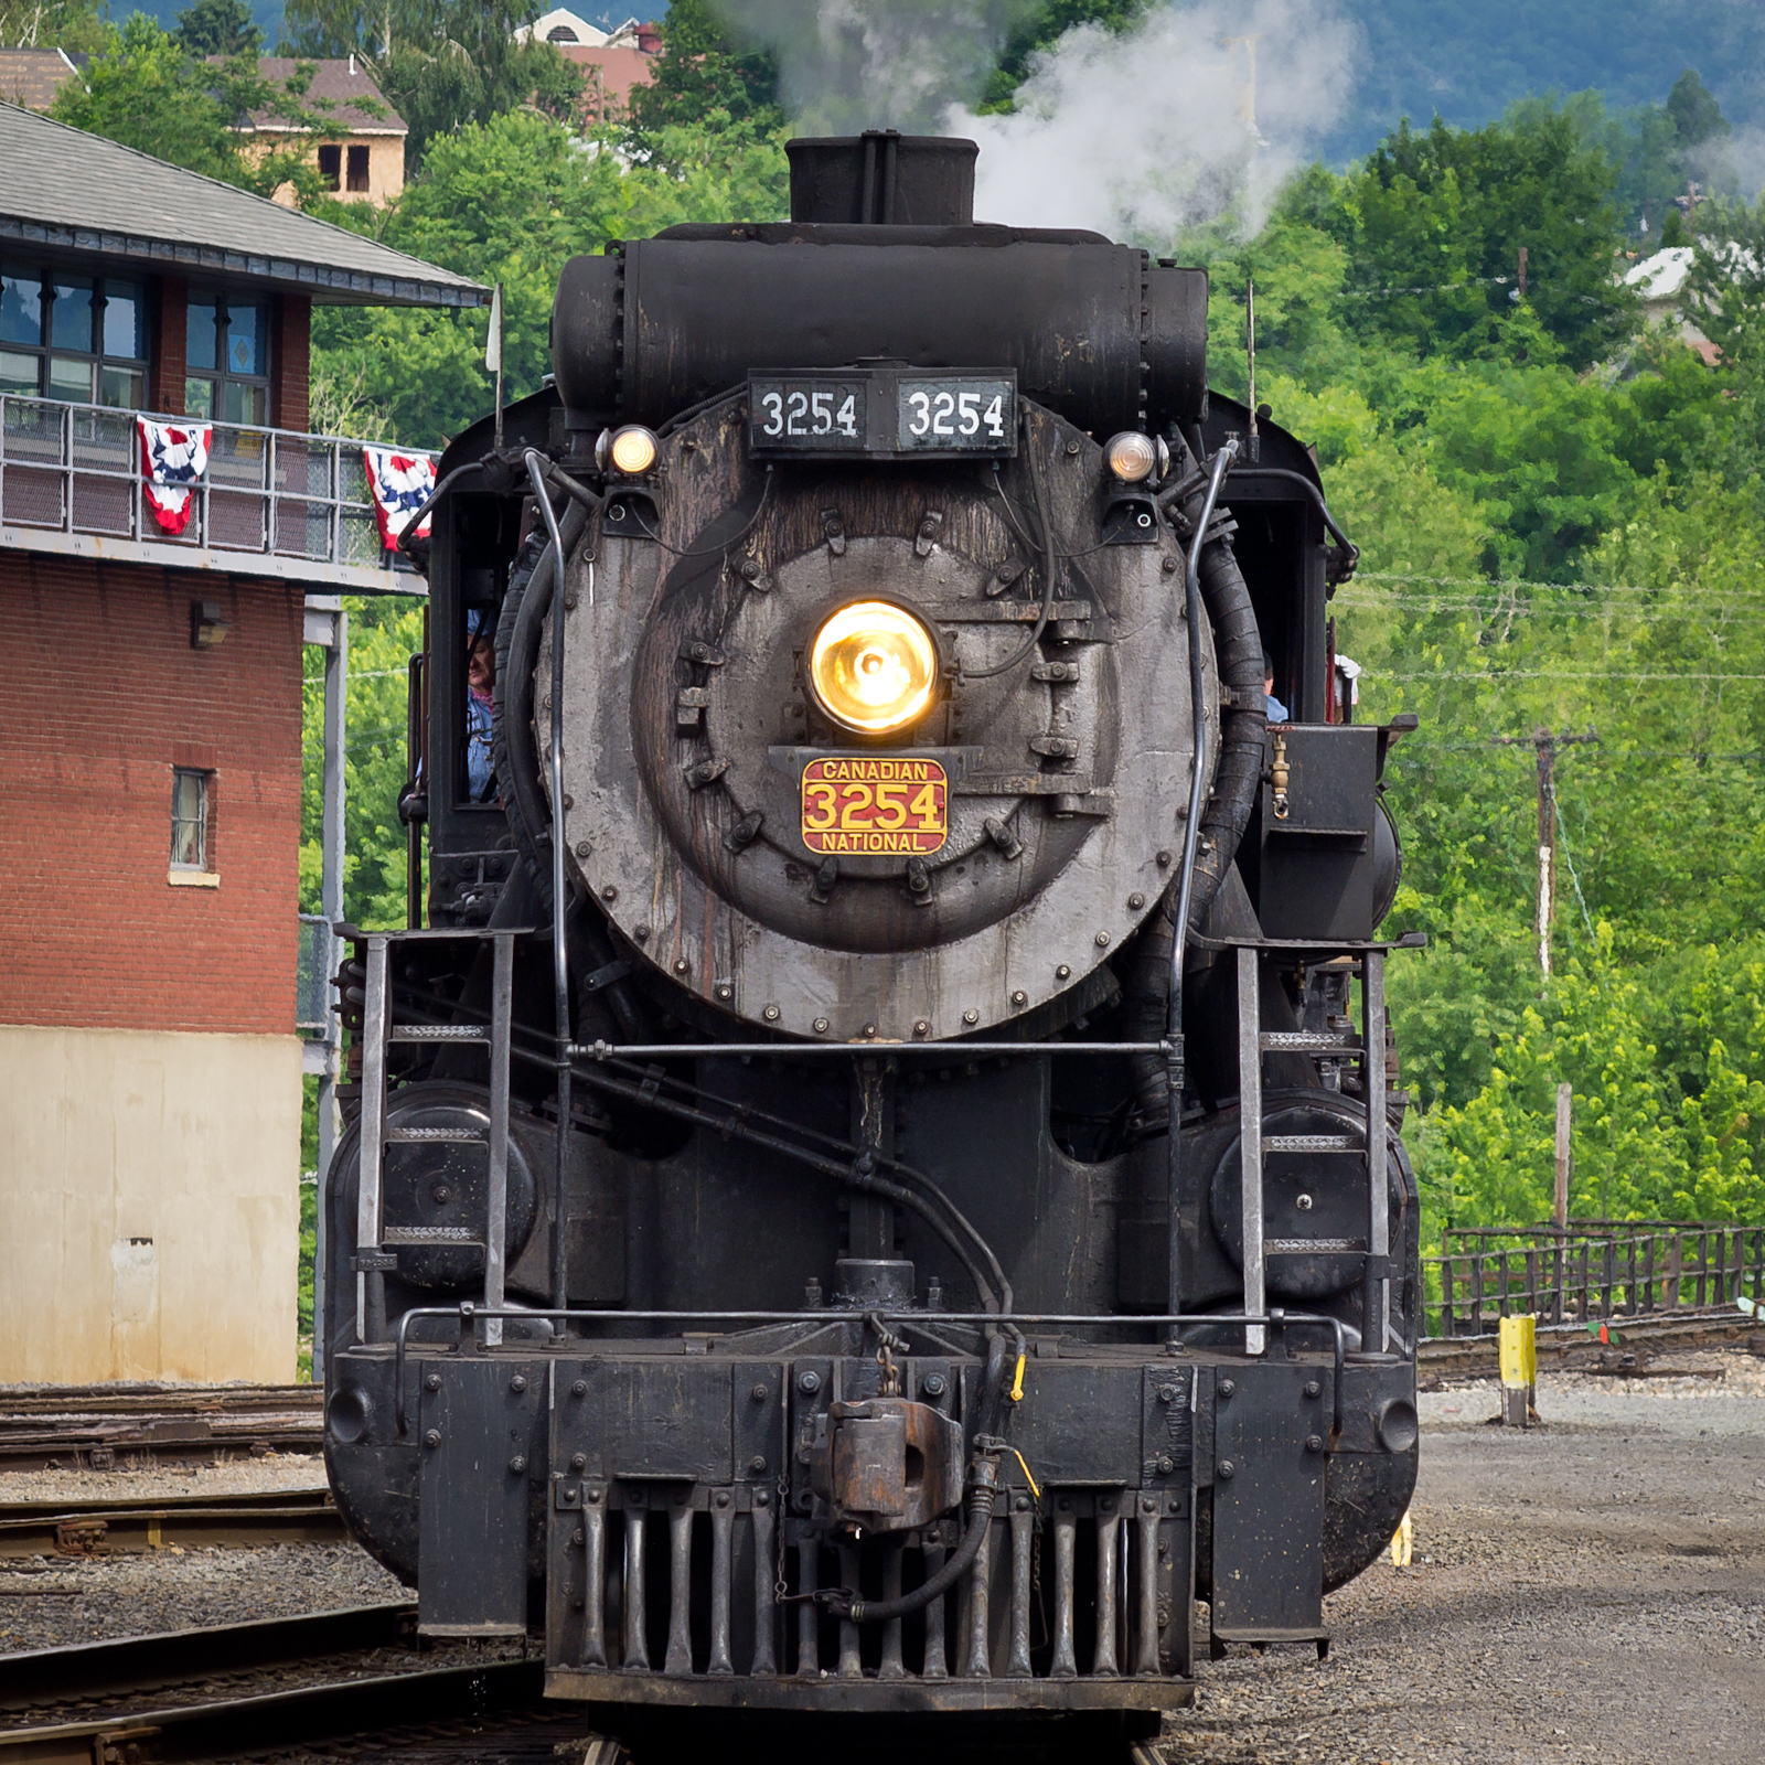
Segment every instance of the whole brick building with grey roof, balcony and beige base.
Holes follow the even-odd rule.
[[[0,164],[0,1380],[286,1380],[302,644],[422,588],[311,311],[485,291],[4,104]],[[178,533],[141,413],[210,434]]]

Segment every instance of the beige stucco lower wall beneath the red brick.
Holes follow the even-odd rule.
[[[295,1377],[300,1043],[0,1024],[0,1382]]]

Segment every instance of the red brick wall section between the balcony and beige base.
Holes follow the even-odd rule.
[[[0,1022],[291,1034],[300,591],[7,551],[0,620]],[[175,764],[214,768],[219,888],[166,881]]]

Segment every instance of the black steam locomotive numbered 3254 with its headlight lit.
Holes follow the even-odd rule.
[[[1197,1631],[1322,1654],[1416,1481],[1356,552],[1205,274],[976,152],[574,259],[417,542],[327,1463],[552,1698],[1144,1728]]]

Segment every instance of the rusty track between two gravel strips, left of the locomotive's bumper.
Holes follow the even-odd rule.
[[[155,1500],[0,1502],[0,1560],[168,1544],[335,1544],[344,1537],[342,1514],[323,1484]]]

